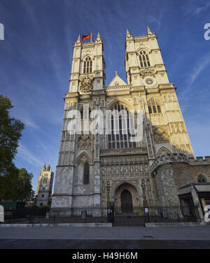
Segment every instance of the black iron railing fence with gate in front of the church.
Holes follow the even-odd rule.
[[[141,225],[146,222],[200,222],[197,206],[148,206],[125,208],[19,208],[4,211],[8,224],[58,224],[112,222],[113,225]]]

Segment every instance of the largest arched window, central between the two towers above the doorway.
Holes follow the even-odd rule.
[[[129,130],[130,122],[127,108],[123,106],[123,104],[116,104],[111,110],[116,110],[118,112],[118,118],[115,119],[114,115],[111,115],[111,134],[107,135],[108,148],[136,148],[137,143],[130,141],[132,134],[130,134]]]

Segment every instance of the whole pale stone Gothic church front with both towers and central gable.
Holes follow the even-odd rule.
[[[169,83],[157,36],[147,28],[146,36],[125,36],[125,83],[116,71],[105,85],[103,43],[98,33],[92,42],[82,43],[80,36],[73,46],[69,92],[64,97],[64,118],[59,148],[52,207],[106,206],[113,201],[127,207],[179,204],[178,188],[169,183],[174,199],[166,203],[165,183],[152,169],[162,156],[193,157],[183,115],[176,97],[176,87]],[[99,110],[104,124],[99,132],[88,132],[94,110]],[[111,111],[111,114],[107,113]],[[132,141],[130,125],[122,111],[137,116],[143,112],[143,137]],[[115,115],[118,115],[118,133]],[[127,116],[127,117],[125,117]],[[69,123],[81,120],[81,132],[69,133]],[[111,123],[109,132],[106,123]],[[77,123],[77,122],[75,122]],[[75,126],[76,127],[76,126]],[[141,127],[134,120],[135,129]],[[83,129],[82,129],[83,128]],[[79,129],[80,130],[80,129]],[[102,131],[101,130],[101,131]],[[157,169],[158,166],[155,166]],[[155,171],[155,173],[153,173]],[[179,171],[168,171],[170,175]],[[190,176],[181,175],[182,183]],[[170,189],[171,189],[170,188]],[[175,190],[175,188],[177,188]],[[169,189],[169,188],[167,188]],[[176,198],[175,198],[176,197]]]

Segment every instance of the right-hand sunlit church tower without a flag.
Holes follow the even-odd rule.
[[[188,131],[176,97],[176,87],[169,83],[157,36],[147,28],[146,36],[133,37],[127,30],[125,68],[132,90],[144,100],[146,119],[152,125],[153,150],[150,158],[169,152],[193,156]]]

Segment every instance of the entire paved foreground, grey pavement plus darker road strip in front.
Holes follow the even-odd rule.
[[[210,226],[1,227],[0,249],[210,248]]]

